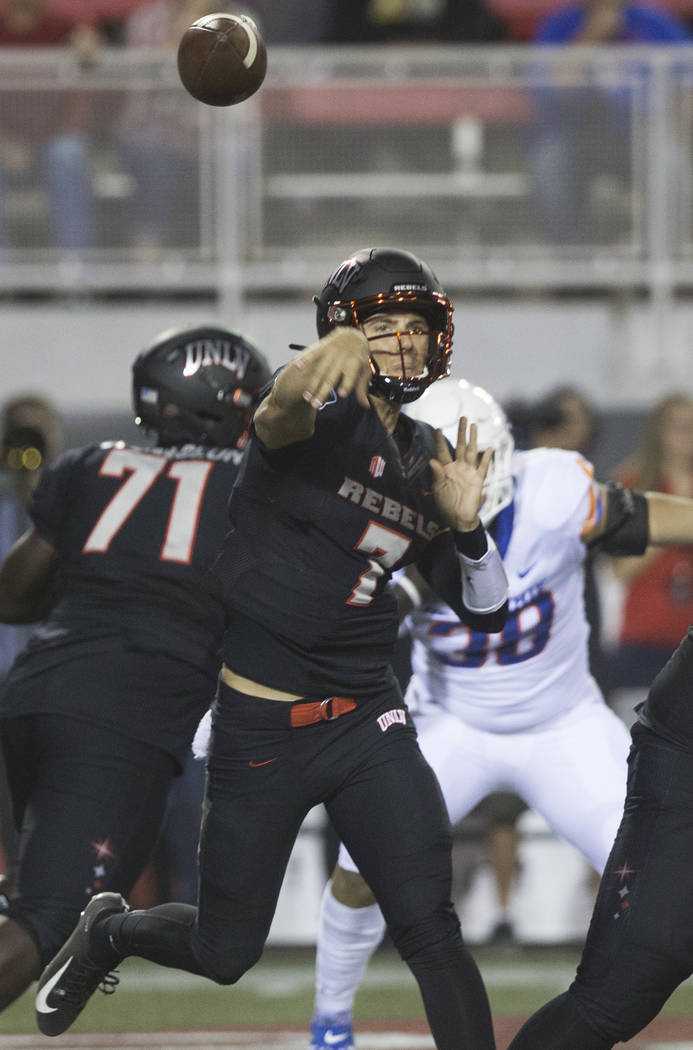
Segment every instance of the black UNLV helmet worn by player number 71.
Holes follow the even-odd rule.
[[[240,447],[270,376],[260,351],[236,332],[169,329],[132,365],[135,422],[162,445]]]

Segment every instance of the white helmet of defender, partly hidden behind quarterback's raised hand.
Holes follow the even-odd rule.
[[[418,401],[404,405],[412,419],[420,419],[440,427],[453,447],[457,443],[460,416],[477,424],[479,452],[492,446],[494,458],[484,482],[484,500],[479,517],[484,525],[512,501],[512,468],[510,460],[514,441],[507,417],[498,401],[483,386],[474,386],[466,379],[439,379]]]

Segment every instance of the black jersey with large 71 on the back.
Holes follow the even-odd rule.
[[[174,727],[175,705],[190,709],[185,733],[190,731],[191,709],[195,717],[204,713],[219,666],[224,609],[209,569],[228,528],[229,494],[240,459],[242,453],[230,448],[110,442],[71,449],[46,468],[29,516],[59,554],[56,601],[13,668],[0,713],[48,708],[94,718],[100,708],[117,709],[120,700],[111,695],[116,687],[109,688],[106,670],[106,654],[116,647],[125,656],[144,653],[159,660],[164,671],[161,676],[152,671],[154,684],[171,674],[167,662],[181,668],[180,675],[171,675],[176,695],[161,704],[135,695],[150,684],[133,681],[127,690],[132,696],[123,710],[138,723],[130,726],[135,735],[163,739],[162,711]],[[45,671],[79,687],[80,660],[101,652],[101,689],[67,689],[48,705],[41,689],[32,688]],[[187,695],[192,689],[200,695]],[[106,720],[114,718],[117,710]],[[170,735],[171,748],[180,748],[178,730]]]

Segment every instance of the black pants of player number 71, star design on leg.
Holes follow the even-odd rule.
[[[0,719],[20,839],[6,910],[43,965],[93,894],[128,894],[153,852],[175,760],[110,728],[65,715]]]

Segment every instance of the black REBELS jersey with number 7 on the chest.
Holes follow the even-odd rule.
[[[401,417],[391,436],[354,397],[333,396],[307,441],[273,452],[252,436],[216,566],[229,667],[311,696],[382,680],[397,636],[386,584],[445,530],[434,455],[427,424]]]

